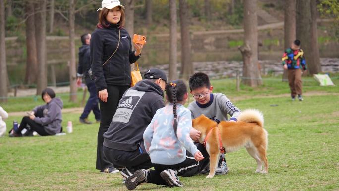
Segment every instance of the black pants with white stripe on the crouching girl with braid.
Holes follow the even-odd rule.
[[[157,185],[168,185],[165,180],[163,180],[160,176],[161,171],[166,169],[177,170],[179,176],[182,177],[190,177],[199,174],[203,169],[205,169],[210,163],[210,157],[206,151],[206,148],[200,144],[196,144],[198,150],[205,157],[201,161],[196,161],[194,156],[186,152],[186,160],[179,164],[175,165],[162,165],[162,164],[154,164],[154,170],[150,170],[148,174],[148,183],[154,183]]]

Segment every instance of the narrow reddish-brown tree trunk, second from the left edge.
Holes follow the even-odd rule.
[[[27,19],[26,24],[26,47],[27,47],[27,58],[26,58],[26,75],[25,83],[34,84],[36,83],[38,71],[37,61],[37,47],[35,40],[35,24],[34,24],[34,4],[31,1],[26,1],[25,4]]]

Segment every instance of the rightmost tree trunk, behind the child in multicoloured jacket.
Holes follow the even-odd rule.
[[[318,74],[321,72],[321,64],[319,58],[318,32],[317,32],[317,2],[311,0],[311,49],[313,66],[309,69],[310,74]],[[306,60],[307,63],[307,60]]]

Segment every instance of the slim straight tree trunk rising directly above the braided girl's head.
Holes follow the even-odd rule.
[[[170,11],[170,50],[169,50],[169,81],[177,76],[177,24],[176,24],[176,0],[169,0]]]

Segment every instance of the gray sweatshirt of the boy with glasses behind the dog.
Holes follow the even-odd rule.
[[[197,118],[201,114],[215,121],[228,121],[228,114],[231,116],[229,120],[237,121],[240,109],[235,107],[232,102],[222,93],[210,94],[210,101],[207,104],[199,104],[194,101],[188,106],[192,112],[192,118]]]

